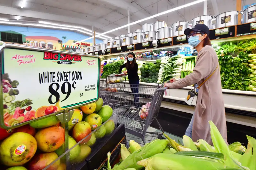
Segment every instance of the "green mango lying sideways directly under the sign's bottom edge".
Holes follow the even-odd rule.
[[[54,116],[50,116],[50,117],[38,120],[36,122],[29,123],[29,125],[32,128],[41,129],[41,128],[47,128],[47,127],[53,126],[59,122],[60,120],[58,119],[58,117],[54,115]]]

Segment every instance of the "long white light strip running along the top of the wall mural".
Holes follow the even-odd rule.
[[[17,17],[19,17],[19,16],[17,16]],[[16,17],[16,19],[18,20],[17,17]],[[81,33],[92,35],[92,33],[89,33],[89,32],[85,32],[85,31],[82,31],[82,30],[79,30],[79,29],[74,29],[74,28],[67,28],[67,27],[47,26],[47,25],[43,25],[43,24],[27,24],[27,23],[19,23],[19,22],[6,22],[6,21],[1,21],[1,20],[0,20],[0,23],[2,23],[2,24],[12,24],[12,25],[22,25],[22,26],[38,26],[38,27],[46,27],[46,28],[57,28],[57,29],[64,29],[64,30],[73,30],[73,31],[78,31],[78,32],[81,32]],[[106,39],[106,38],[101,37],[101,36],[98,36],[98,38],[103,39],[103,40]]]

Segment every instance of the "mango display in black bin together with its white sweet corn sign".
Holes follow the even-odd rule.
[[[2,42],[0,51],[1,169],[98,168],[124,138],[99,100],[100,58]]]

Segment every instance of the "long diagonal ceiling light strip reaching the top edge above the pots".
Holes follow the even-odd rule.
[[[138,20],[138,21],[134,21],[134,22],[132,22],[132,23],[130,23],[130,24],[126,24],[126,25],[124,25],[124,26],[120,26],[120,27],[118,27],[118,28],[115,28],[115,29],[113,29],[113,30],[107,31],[107,32],[105,32],[105,33],[100,33],[100,34],[96,35],[95,37],[98,37],[98,36],[100,36],[100,35],[104,35],[104,34],[106,34],[106,33],[111,33],[111,32],[113,32],[113,31],[116,31],[116,30],[125,28],[125,27],[127,27],[127,26],[131,26],[131,25],[140,23],[140,22],[142,22],[142,21],[146,21],[146,20],[148,20],[148,19],[155,18],[155,17],[157,17],[157,16],[164,15],[164,14],[167,14],[167,13],[169,13],[169,12],[177,11],[177,10],[180,10],[180,9],[182,9],[182,8],[186,8],[186,7],[188,7],[188,6],[191,6],[191,5],[194,5],[194,4],[198,4],[198,3],[201,3],[201,2],[204,2],[204,1],[207,1],[207,0],[197,0],[197,1],[194,1],[194,2],[191,2],[191,3],[188,3],[188,4],[184,4],[184,5],[178,6],[178,7],[176,7],[176,8],[172,8],[172,9],[170,9],[170,10],[157,13],[157,14],[152,15],[152,16],[150,16],[150,17],[147,17],[147,18],[144,18],[144,19],[140,19],[140,20]],[[86,41],[86,40],[89,40],[89,39],[92,39],[92,38],[93,38],[93,37],[90,37],[90,38],[87,38],[87,39],[84,39],[84,40],[81,40],[81,41]],[[81,42],[81,41],[78,41],[78,42]]]

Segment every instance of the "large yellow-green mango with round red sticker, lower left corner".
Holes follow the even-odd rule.
[[[7,137],[0,145],[1,162],[6,166],[20,166],[27,163],[36,153],[36,139],[24,132]]]

